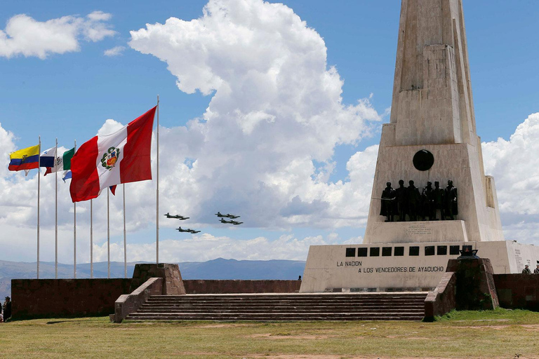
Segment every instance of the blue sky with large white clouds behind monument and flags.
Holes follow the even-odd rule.
[[[464,2],[477,133],[505,238],[539,245],[539,32],[535,1]],[[37,171],[9,153],[60,151],[121,128],[159,95],[160,262],[307,258],[361,243],[389,122],[400,1],[9,1],[0,11],[0,259],[36,260]],[[155,140],[155,133],[154,133]],[[128,262],[156,257],[154,180],[126,184]],[[59,261],[74,206],[58,179]],[[54,177],[41,177],[40,260],[55,258]],[[107,260],[107,196],[93,260]],[[124,259],[121,188],[111,259]],[[244,224],[218,222],[217,211]],[[166,219],[181,214],[187,221]],[[90,262],[90,205],[76,206]],[[181,225],[200,230],[175,231]]]

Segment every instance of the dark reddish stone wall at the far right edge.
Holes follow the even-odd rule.
[[[539,275],[495,274],[494,283],[502,308],[539,311]]]

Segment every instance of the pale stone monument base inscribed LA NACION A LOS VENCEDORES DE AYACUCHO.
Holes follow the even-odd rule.
[[[516,241],[312,245],[300,292],[431,291],[463,245],[491,259],[495,274],[521,273],[539,261],[539,247]]]

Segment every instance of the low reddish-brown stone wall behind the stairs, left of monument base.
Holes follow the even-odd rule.
[[[183,280],[187,294],[294,293],[301,280]]]

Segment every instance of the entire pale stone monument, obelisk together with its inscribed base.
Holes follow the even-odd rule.
[[[400,180],[419,192],[452,181],[458,215],[403,220],[394,210],[397,222],[386,222],[380,197]],[[463,245],[490,258],[495,273],[539,260],[539,248],[504,241],[494,180],[484,174],[462,0],[402,0],[391,121],[382,128],[364,244],[311,246],[300,292],[431,290]]]

